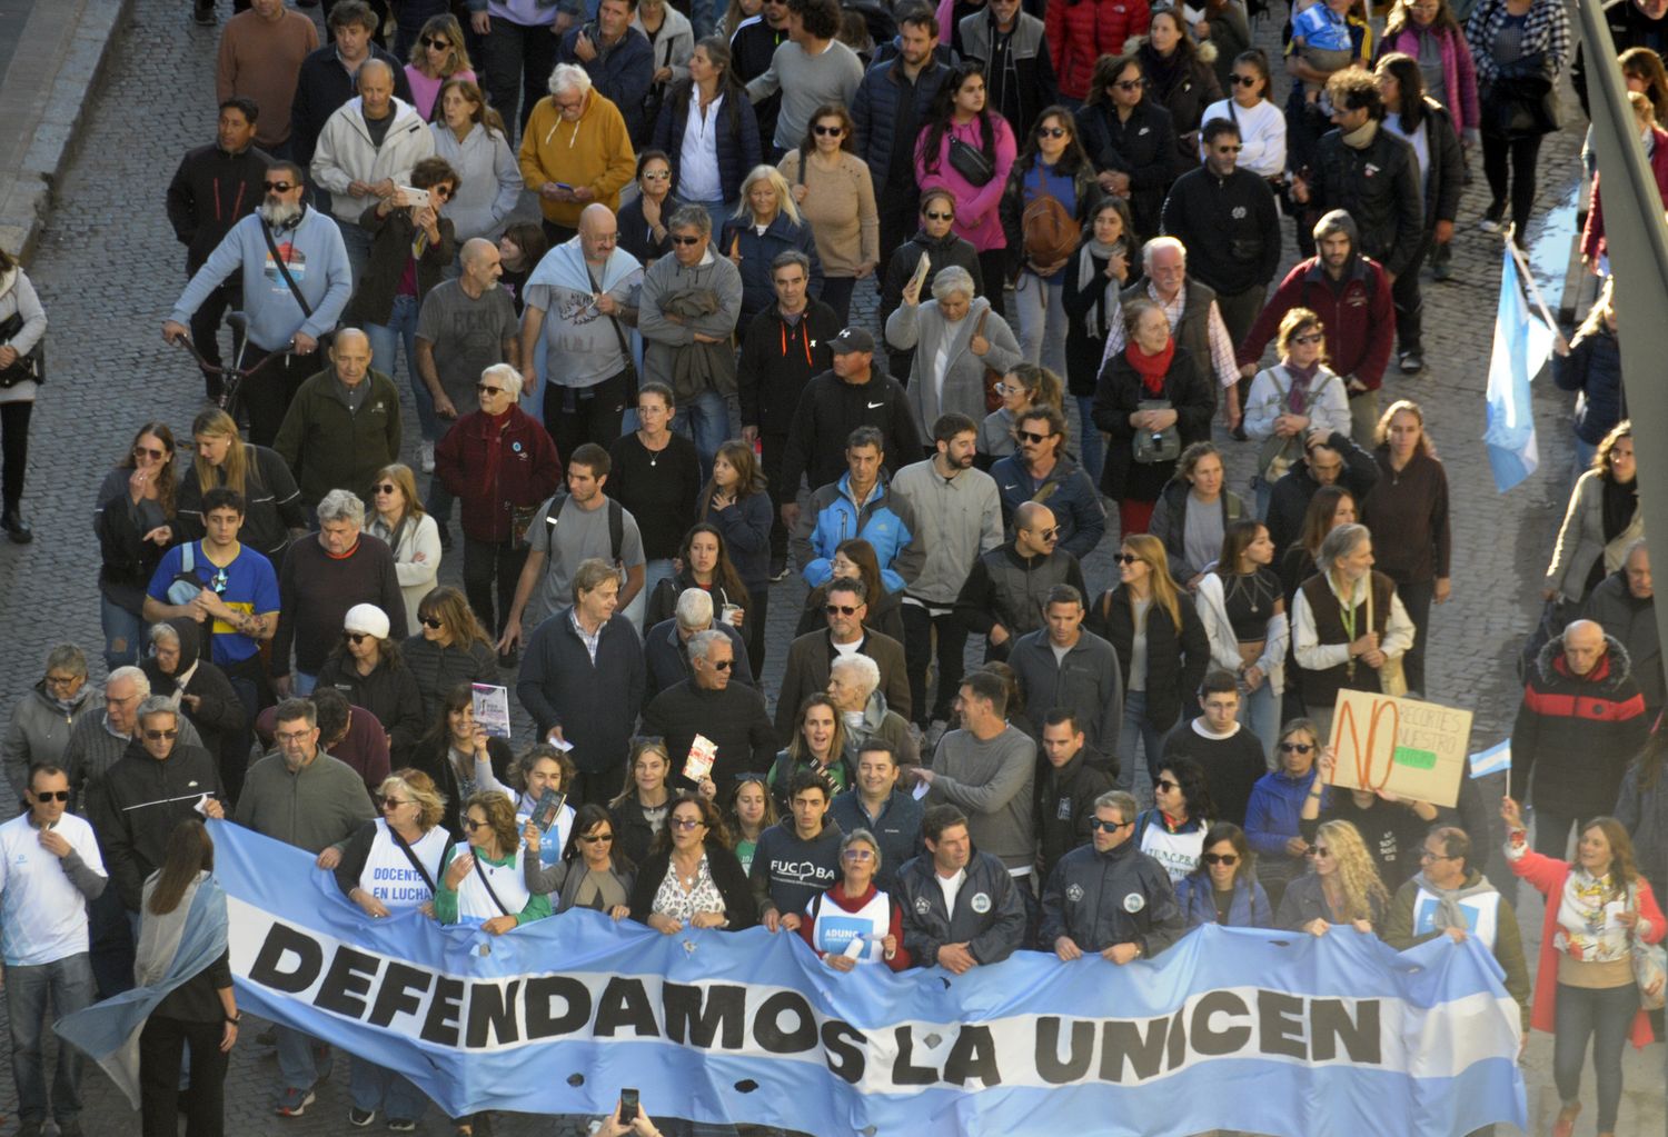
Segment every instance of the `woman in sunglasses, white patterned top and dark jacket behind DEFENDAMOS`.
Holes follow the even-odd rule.
[[[637,872],[631,919],[664,935],[684,929],[741,932],[757,915],[747,874],[729,847],[729,830],[712,802],[679,794]]]

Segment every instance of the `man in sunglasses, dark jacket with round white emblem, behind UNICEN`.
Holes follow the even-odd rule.
[[[1039,939],[1061,962],[1099,952],[1123,967],[1153,959],[1188,930],[1164,865],[1131,840],[1134,817],[1129,794],[1101,794],[1089,822],[1093,844],[1061,857],[1049,875]]]

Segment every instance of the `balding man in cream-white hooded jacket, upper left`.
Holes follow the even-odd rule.
[[[325,120],[312,160],[312,178],[330,192],[330,213],[342,225],[354,287],[370,258],[370,233],[359,227],[359,215],[372,198],[390,198],[409,185],[412,167],[430,155],[429,123],[394,97],[394,68],[379,58],[365,60],[359,98],[349,98]]]

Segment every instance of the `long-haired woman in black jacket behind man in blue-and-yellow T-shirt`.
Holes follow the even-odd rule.
[[[224,485],[244,495],[244,527],[237,538],[272,562],[284,565],[290,538],[305,533],[307,507],[290,467],[270,447],[244,442],[237,420],[219,407],[192,420],[195,455],[175,495],[175,540],[202,540],[203,493]]]

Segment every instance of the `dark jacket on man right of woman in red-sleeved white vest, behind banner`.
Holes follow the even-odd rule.
[[[904,910],[904,947],[922,967],[937,964],[944,944],[966,944],[981,964],[999,964],[1026,935],[1026,904],[1007,867],[991,854],[972,850],[967,879],[956,894],[956,910],[944,910],[932,854],[911,859],[897,872],[899,907]]]

